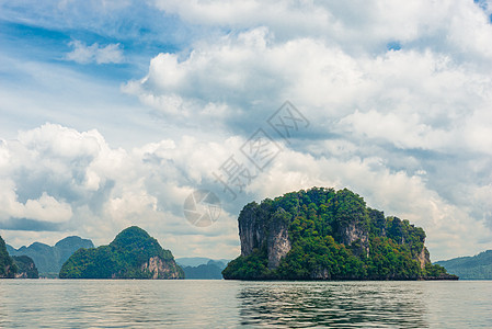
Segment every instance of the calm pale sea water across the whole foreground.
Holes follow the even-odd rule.
[[[0,328],[492,328],[492,281],[0,281]]]

